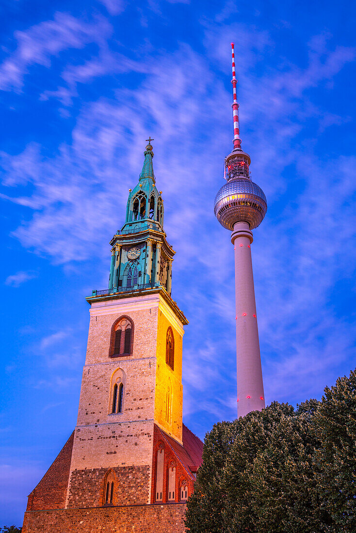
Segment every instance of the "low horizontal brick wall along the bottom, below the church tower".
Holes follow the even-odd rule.
[[[184,533],[185,504],[26,512],[22,533]]]

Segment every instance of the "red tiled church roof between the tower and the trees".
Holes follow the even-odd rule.
[[[203,442],[199,437],[194,435],[194,433],[183,424],[183,446],[181,446],[176,439],[170,437],[160,427],[156,427],[185,469],[188,472],[195,473],[202,464]]]

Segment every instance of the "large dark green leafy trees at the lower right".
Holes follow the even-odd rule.
[[[273,402],[205,437],[191,533],[356,531],[356,373],[294,409]]]

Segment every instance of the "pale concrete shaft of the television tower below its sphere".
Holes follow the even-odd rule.
[[[252,273],[252,231],[247,222],[236,222],[231,234],[235,253],[236,367],[238,374],[238,416],[265,407],[259,352],[254,276]]]

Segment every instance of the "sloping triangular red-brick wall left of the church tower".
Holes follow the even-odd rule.
[[[65,507],[74,431],[55,461],[28,497],[27,511]]]

